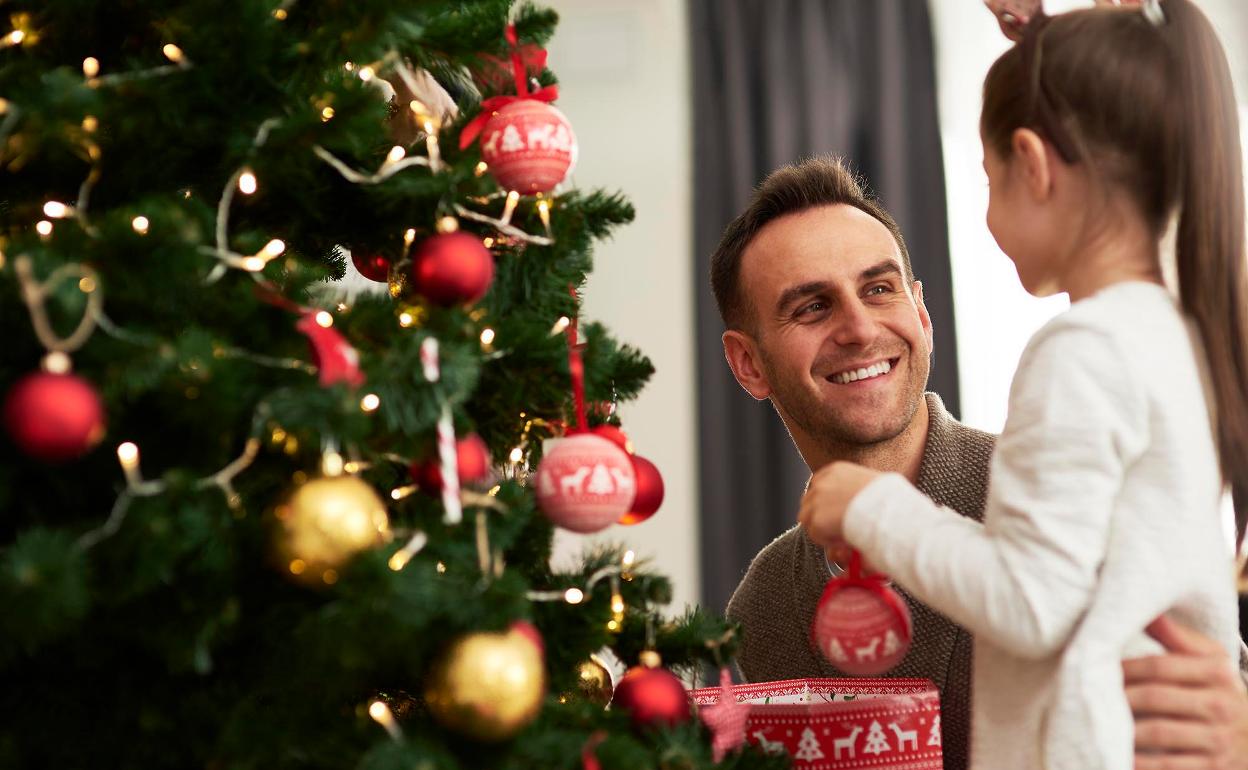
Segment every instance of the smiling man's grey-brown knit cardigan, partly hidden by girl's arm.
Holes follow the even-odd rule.
[[[936,503],[982,519],[996,437],[953,419],[934,393],[927,394],[927,446],[916,485]],[[810,640],[815,605],[827,578],[822,550],[800,528],[784,533],[754,558],[728,603],[728,616],[744,624],[738,664],[746,680],[846,676]],[[899,593],[910,605],[914,639],[910,654],[889,675],[936,683],[945,769],[965,770],[971,728],[971,636],[936,610]]]

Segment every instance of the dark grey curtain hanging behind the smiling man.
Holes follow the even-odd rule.
[[[690,0],[703,600],[721,609],[796,517],[807,470],[724,361],[710,253],[784,163],[844,155],[897,218],[936,333],[930,388],[958,413],[957,356],[924,0]]]

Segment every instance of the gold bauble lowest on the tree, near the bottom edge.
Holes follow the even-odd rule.
[[[461,636],[434,661],[424,685],[434,719],[483,741],[505,740],[533,721],[544,696],[542,654],[517,631]]]

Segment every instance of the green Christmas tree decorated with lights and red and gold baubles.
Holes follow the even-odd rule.
[[[594,431],[651,367],[578,318],[631,208],[560,186],[554,14],[5,11],[0,765],[711,766],[590,655],[734,629],[624,547],[549,567],[661,489]]]

